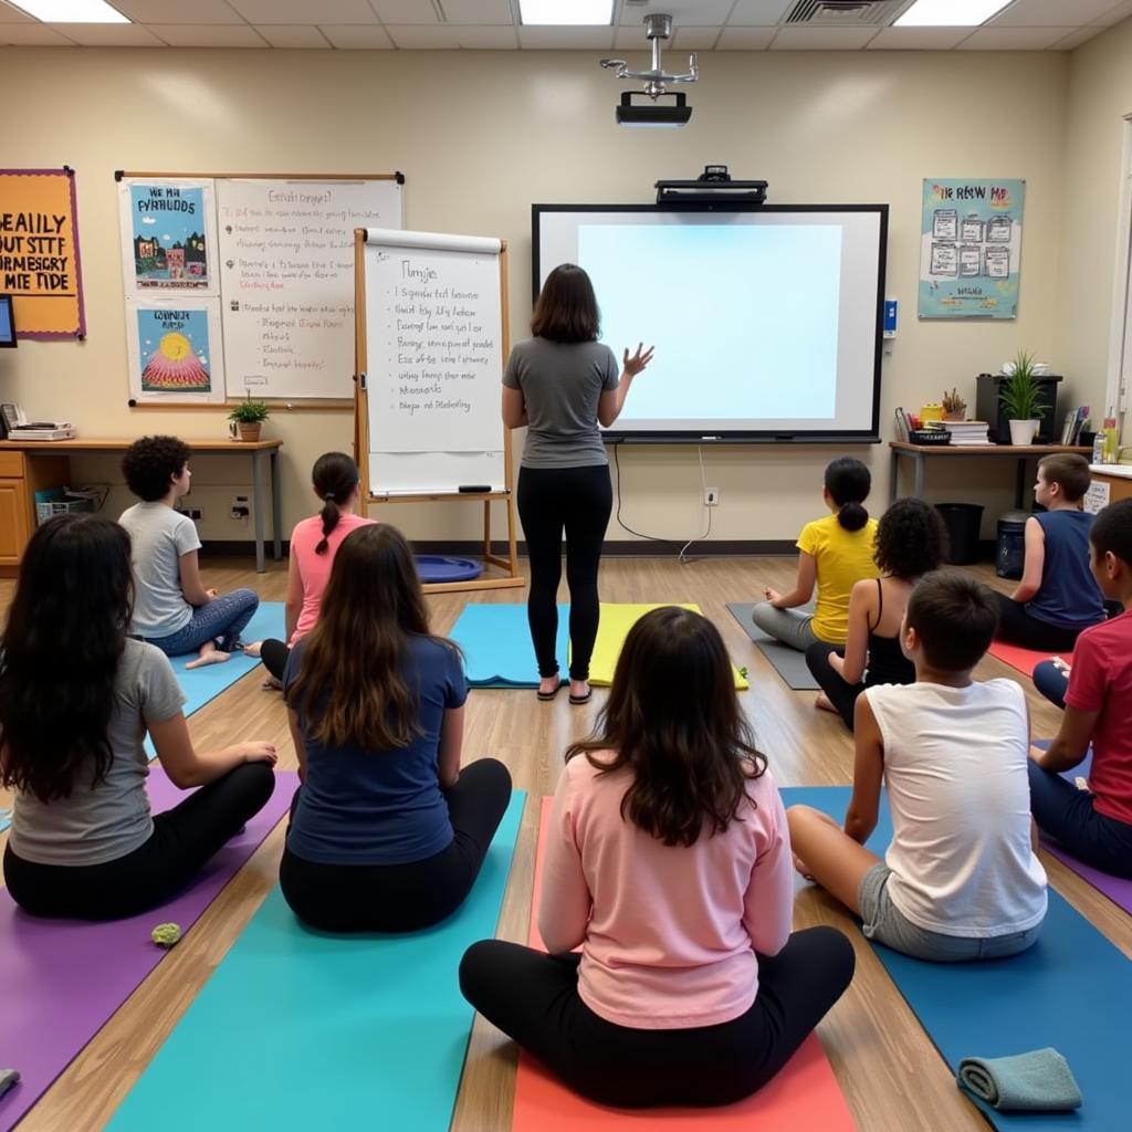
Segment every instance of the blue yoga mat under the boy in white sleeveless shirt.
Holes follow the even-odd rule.
[[[788,806],[844,817],[848,787],[782,790]],[[868,848],[892,837],[887,805]],[[954,1073],[963,1057],[1002,1057],[1053,1046],[1081,1088],[1075,1113],[998,1113],[972,1097],[996,1129],[1112,1132],[1129,1126],[1127,1020],[1132,964],[1052,889],[1038,942],[1021,955],[976,963],[926,963],[873,950]]]

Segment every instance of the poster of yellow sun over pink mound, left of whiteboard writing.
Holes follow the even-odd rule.
[[[218,299],[127,299],[126,308],[135,401],[224,400]]]

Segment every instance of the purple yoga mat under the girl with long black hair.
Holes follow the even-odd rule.
[[[40,1099],[166,952],[149,938],[154,925],[195,924],[221,889],[288,812],[299,777],[276,774],[267,805],[201,871],[191,889],[113,924],[42,920],[22,912],[0,890],[0,1066],[20,1082],[0,1097],[0,1132]],[[185,798],[158,766],[147,782],[154,813]]]

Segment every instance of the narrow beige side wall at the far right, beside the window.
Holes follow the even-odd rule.
[[[1106,409],[1121,152],[1124,119],[1132,115],[1132,19],[1071,54],[1066,110],[1056,354],[1066,372],[1088,375],[1082,400],[1096,420]]]

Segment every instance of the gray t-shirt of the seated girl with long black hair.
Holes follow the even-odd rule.
[[[33,794],[17,794],[11,851],[40,865],[102,865],[145,844],[153,818],[145,792],[149,756],[142,740],[148,724],[171,719],[183,703],[169,658],[155,645],[128,640],[106,727],[106,777],[93,787],[92,763],[75,775],[69,798],[44,803]]]

